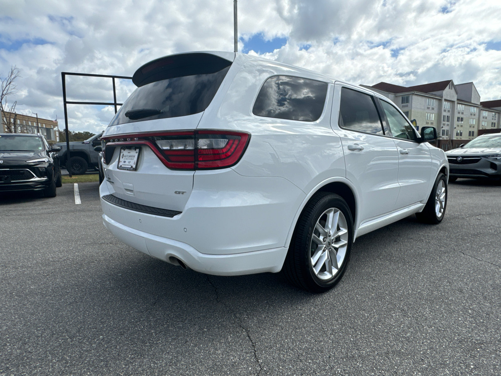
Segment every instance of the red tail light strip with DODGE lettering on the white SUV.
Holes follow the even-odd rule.
[[[212,130],[106,137],[105,155],[109,163],[116,146],[144,144],[171,169],[225,168],[240,160],[249,138],[244,132]]]

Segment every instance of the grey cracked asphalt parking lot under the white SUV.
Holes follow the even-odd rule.
[[[79,187],[0,198],[0,375],[501,374],[499,185],[459,179],[440,225],[360,237],[321,295],[148,257]]]

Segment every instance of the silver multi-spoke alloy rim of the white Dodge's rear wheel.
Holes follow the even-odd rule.
[[[329,280],[340,270],[348,235],[346,218],[339,209],[327,209],[318,219],[310,242],[310,265],[319,279]]]

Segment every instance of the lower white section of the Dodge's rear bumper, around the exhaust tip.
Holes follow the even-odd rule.
[[[282,269],[287,255],[285,247],[229,255],[207,255],[186,243],[122,225],[105,214],[103,214],[103,224],[118,240],[128,246],[166,262],[170,262],[169,257],[175,257],[200,273],[228,276],[276,273]]]

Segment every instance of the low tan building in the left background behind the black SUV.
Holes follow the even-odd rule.
[[[2,126],[0,133],[38,133],[46,140],[59,142],[58,122],[55,120],[38,118],[12,112],[2,113]]]

